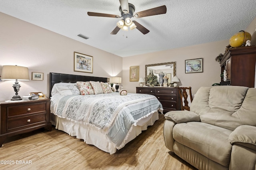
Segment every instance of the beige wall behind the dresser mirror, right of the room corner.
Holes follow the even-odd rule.
[[[245,31],[253,34],[255,31],[255,24],[256,18]],[[136,93],[136,87],[139,86],[138,82],[130,82],[130,66],[138,65],[140,67],[140,77],[145,77],[146,64],[176,61],[176,75],[180,79],[178,86],[191,86],[192,94],[195,94],[202,86],[211,86],[213,83],[220,82],[220,64],[215,61],[215,58],[220,53],[224,54],[228,44],[228,40],[223,40],[220,42],[204,43],[189,47],[125,57],[123,59],[123,88],[130,93]],[[203,73],[185,73],[185,60],[196,58],[203,58]]]

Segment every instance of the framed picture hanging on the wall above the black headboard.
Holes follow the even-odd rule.
[[[74,71],[92,73],[93,57],[82,53],[74,52]]]

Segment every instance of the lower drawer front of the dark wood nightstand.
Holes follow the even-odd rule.
[[[46,113],[8,120],[7,130],[12,130],[13,128],[20,128],[26,125],[31,125],[33,123],[42,123],[42,122],[46,122]]]

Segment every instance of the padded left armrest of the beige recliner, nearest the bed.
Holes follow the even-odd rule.
[[[200,122],[198,114],[192,111],[170,111],[164,115],[166,120],[172,120],[175,123]]]

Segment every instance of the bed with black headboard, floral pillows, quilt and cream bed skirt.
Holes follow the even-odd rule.
[[[153,95],[120,95],[106,82],[104,77],[50,73],[51,123],[114,154],[153,125],[163,109]]]

